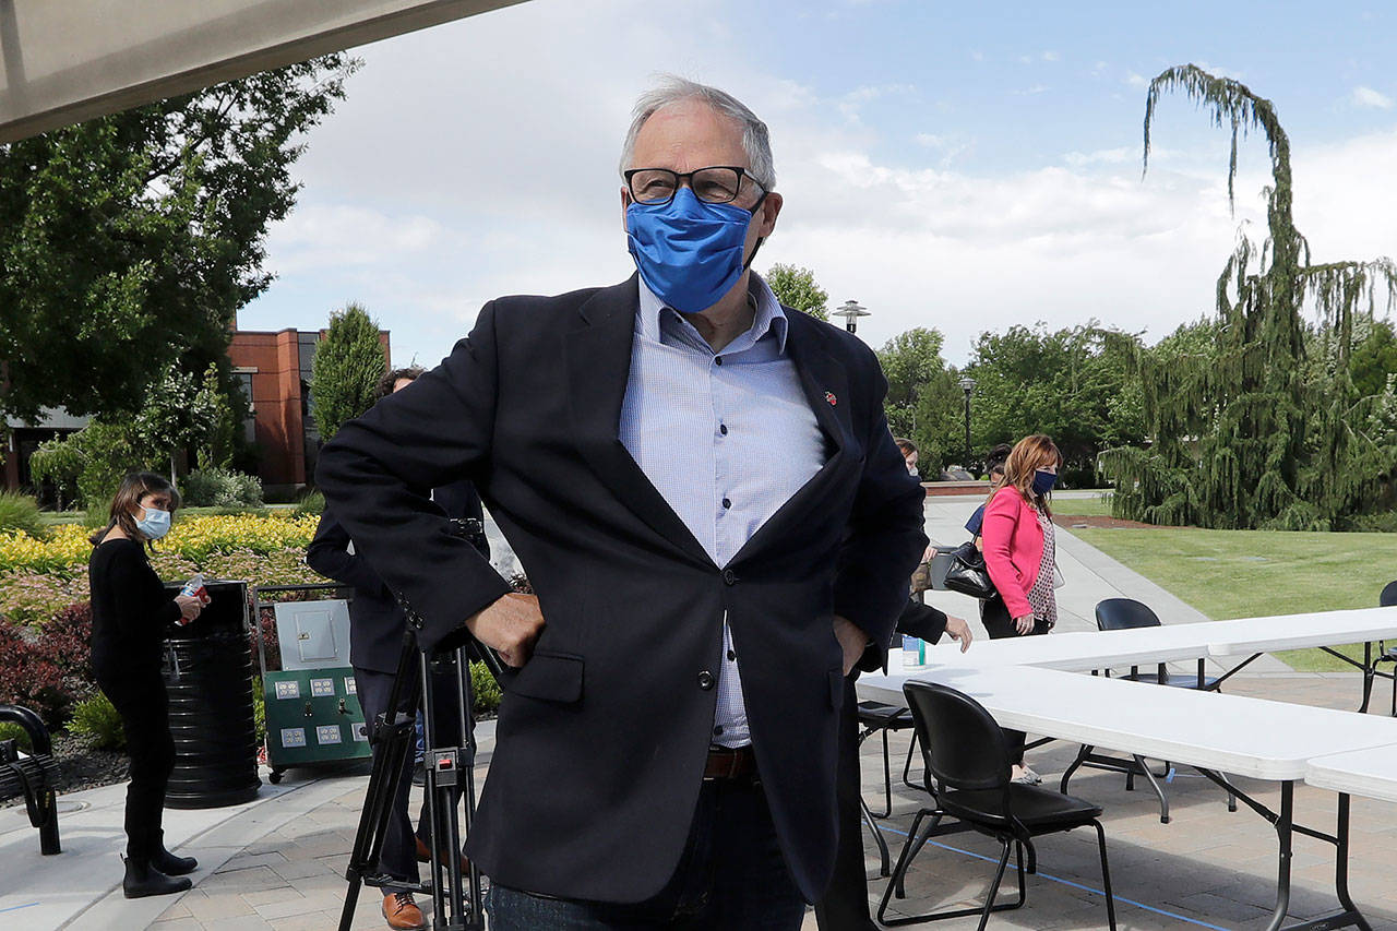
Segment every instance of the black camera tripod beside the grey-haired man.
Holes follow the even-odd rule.
[[[471,653],[476,653],[485,661],[486,668],[496,679],[500,678],[499,660],[489,649],[472,643],[433,656],[427,650],[419,649],[414,625],[407,625],[388,707],[369,723],[369,737],[379,752],[374,753],[353,853],[349,856],[349,867],[345,869],[349,889],[345,895],[344,911],[339,914],[339,931],[349,931],[349,925],[353,923],[360,886],[430,895],[430,927],[433,931],[483,931],[485,928],[481,872],[472,863],[469,876],[461,874],[461,822],[457,805],[460,790],[460,797],[465,801],[465,832],[469,833],[471,821],[475,816],[475,719],[472,714],[475,686],[471,681]],[[437,746],[439,723],[433,720],[432,700],[433,675],[430,667],[433,661],[454,663],[453,685],[457,714],[460,714],[461,746]],[[426,742],[423,766],[426,770],[426,797],[423,805],[430,825],[427,849],[432,860],[429,878],[414,883],[379,872],[377,864],[388,819],[393,815],[393,800],[398,794],[401,780],[405,779],[404,767],[408,752],[415,744],[416,716],[414,712],[418,707],[422,709],[422,730]],[[443,854],[446,854],[446,863],[441,863]],[[443,871],[447,874],[444,888],[441,883]],[[465,890],[467,881],[469,882],[468,893]]]

